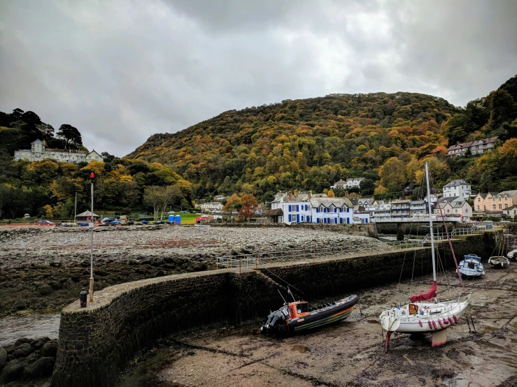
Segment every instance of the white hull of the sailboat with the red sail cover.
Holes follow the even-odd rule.
[[[379,322],[383,330],[397,333],[434,333],[458,323],[469,305],[470,294],[465,300],[447,302],[415,302],[416,314],[409,314],[409,305],[392,308],[381,313]],[[423,314],[420,314],[423,312]]]

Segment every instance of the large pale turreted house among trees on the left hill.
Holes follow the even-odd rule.
[[[59,161],[61,163],[80,163],[91,161],[103,161],[100,154],[92,150],[92,152],[86,152],[83,150],[67,150],[67,149],[51,149],[45,147],[45,144],[41,140],[36,140],[31,143],[31,149],[20,149],[15,151],[14,160],[27,160],[27,161],[43,161],[50,159]]]

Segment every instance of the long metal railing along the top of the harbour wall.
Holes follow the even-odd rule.
[[[421,246],[421,241],[404,240],[399,242],[388,242],[385,244],[385,248],[383,249],[374,247],[357,248],[357,246],[320,247],[315,249],[292,249],[287,251],[229,255],[216,258],[215,268],[227,270],[238,269],[240,273],[260,268],[268,263],[313,261],[324,257],[341,258],[345,256],[354,256],[356,254],[383,254],[385,251],[395,251]]]

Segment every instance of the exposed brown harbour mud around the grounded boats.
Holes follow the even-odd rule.
[[[398,335],[385,350],[378,314],[426,291],[420,277],[358,292],[348,321],[305,335],[266,337],[262,321],[173,335],[135,358],[121,386],[516,386],[517,264],[486,272],[464,282],[475,330],[460,319],[445,346]],[[453,272],[438,279],[439,291],[456,285]]]

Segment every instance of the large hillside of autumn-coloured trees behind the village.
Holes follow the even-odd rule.
[[[346,177],[365,177],[376,194],[397,196],[419,182],[425,161],[437,185],[462,178],[485,191],[510,189],[516,101],[517,77],[466,108],[403,92],[286,100],[156,134],[127,157],[170,165],[194,184],[197,197],[244,191],[267,200],[278,189],[322,191]],[[488,136],[499,136],[496,148],[504,147],[446,158],[448,146]]]

